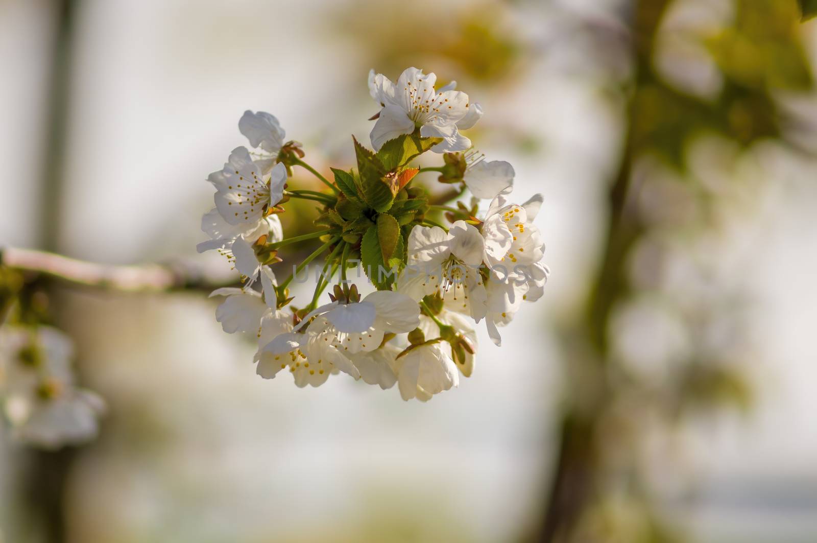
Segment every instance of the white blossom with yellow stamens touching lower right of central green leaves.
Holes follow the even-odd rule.
[[[413,227],[408,236],[408,266],[397,289],[409,298],[440,293],[446,306],[479,321],[488,310],[479,267],[484,254],[480,231],[467,222],[440,227]]]

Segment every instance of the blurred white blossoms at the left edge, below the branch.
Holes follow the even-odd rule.
[[[73,353],[71,340],[47,326],[0,331],[0,397],[14,438],[58,448],[96,437],[105,402],[74,387]]]

